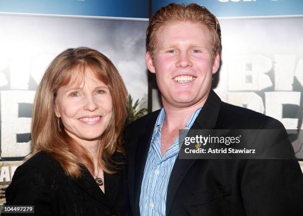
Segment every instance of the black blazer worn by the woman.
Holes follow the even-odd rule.
[[[114,155],[113,160],[121,161],[121,155]],[[127,215],[125,169],[104,172],[105,195],[87,168],[82,173],[69,178],[59,162],[40,152],[16,169],[5,191],[6,205],[33,205],[38,216]]]

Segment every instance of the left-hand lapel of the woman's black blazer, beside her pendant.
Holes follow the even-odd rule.
[[[81,171],[82,171],[82,175],[79,178],[73,178],[72,181],[76,185],[78,185],[82,190],[84,190],[86,193],[96,198],[99,202],[101,202],[102,204],[106,205],[107,207],[113,210],[108,199],[105,197],[104,193],[101,191],[100,187],[98,186],[98,184],[96,183],[95,179],[88,171],[88,169],[86,167],[82,167]]]

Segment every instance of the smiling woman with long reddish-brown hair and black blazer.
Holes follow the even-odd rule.
[[[33,105],[33,156],[15,171],[6,205],[35,206],[39,216],[127,215],[126,98],[103,54],[82,47],[56,56]]]

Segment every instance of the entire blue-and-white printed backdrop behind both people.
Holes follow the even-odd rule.
[[[152,0],[152,11],[172,1]],[[230,104],[297,129],[303,160],[302,0],[195,2],[219,18],[222,65],[215,92]],[[148,0],[0,0],[0,205],[13,173],[30,153],[31,109],[40,79],[57,54],[86,46],[118,68],[139,108],[148,101],[145,38]],[[152,109],[160,108],[152,89]]]

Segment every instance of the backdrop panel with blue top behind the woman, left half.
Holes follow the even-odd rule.
[[[133,100],[147,107],[148,1],[0,0],[0,205],[30,153],[31,110],[50,61],[67,48],[97,49],[112,60]]]

